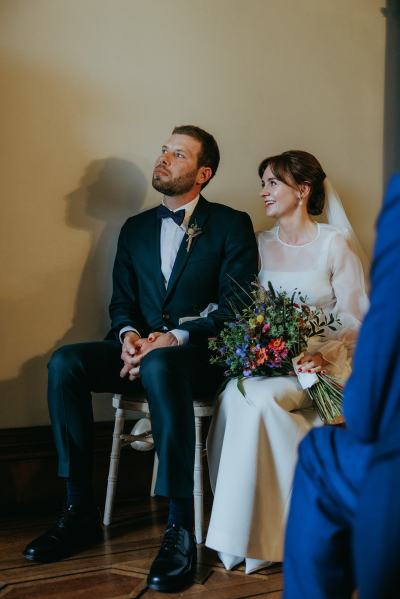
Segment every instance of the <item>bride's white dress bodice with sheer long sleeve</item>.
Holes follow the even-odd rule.
[[[307,304],[317,306],[341,322],[337,330],[325,330],[323,337],[311,337],[310,353],[320,352],[331,364],[331,373],[345,379],[350,373],[351,355],[368,300],[358,257],[344,236],[334,227],[317,223],[315,238],[304,245],[290,245],[274,227],[258,234],[259,281],[268,281],[289,295],[301,292]]]

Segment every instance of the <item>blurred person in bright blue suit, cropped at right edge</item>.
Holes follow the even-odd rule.
[[[370,309],[345,388],[345,428],[299,448],[285,599],[400,597],[400,174],[377,222]]]

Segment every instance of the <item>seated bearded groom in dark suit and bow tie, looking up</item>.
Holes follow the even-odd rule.
[[[66,507],[55,526],[26,547],[27,559],[61,559],[98,538],[91,392],[144,388],[159,457],[156,493],[169,497],[167,529],[148,582],[178,591],[192,580],[193,399],[213,393],[221,379],[209,364],[207,340],[229,318],[232,279],[246,285],[257,270],[249,216],[200,193],[218,163],[212,135],[175,127],[153,171],[161,204],[129,218],[121,230],[110,333],[104,341],[64,346],[50,360],[48,402]]]

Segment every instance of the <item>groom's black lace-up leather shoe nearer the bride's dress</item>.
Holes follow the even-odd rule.
[[[162,593],[178,592],[193,582],[196,543],[192,533],[172,524],[164,534],[161,549],[154,560],[147,584]]]

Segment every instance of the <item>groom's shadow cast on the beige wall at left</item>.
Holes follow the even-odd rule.
[[[18,398],[20,409],[26,415],[34,415],[38,403],[44,400],[47,363],[53,351],[67,343],[102,339],[106,335],[119,229],[126,218],[140,212],[146,185],[143,173],[135,164],[108,158],[91,162],[77,189],[66,196],[66,225],[91,234],[72,325],[45,354],[25,362],[16,378],[0,382],[0,397],[8,399],[10,406],[12,398]],[[65,251],[68,252],[68,248]],[[55,278],[55,283],[57,280]],[[17,405],[16,401],[13,403]]]

